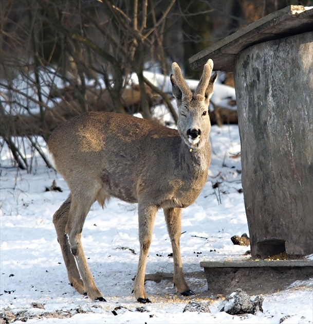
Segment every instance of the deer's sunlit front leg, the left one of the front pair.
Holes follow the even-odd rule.
[[[140,255],[133,292],[137,301],[141,303],[151,302],[144,290],[144,277],[156,212],[157,206],[145,206],[138,203]]]

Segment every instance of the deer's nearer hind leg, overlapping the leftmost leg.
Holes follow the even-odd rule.
[[[88,267],[83,246],[81,244],[81,233],[87,213],[91,205],[95,202],[97,192],[85,190],[84,193],[78,195],[78,199],[72,196],[71,206],[69,210],[68,222],[66,224],[66,233],[68,235],[70,250],[75,257],[80,276],[82,278],[87,295],[93,300],[105,301],[98,290],[93,276]],[[95,193],[94,195],[92,193]]]

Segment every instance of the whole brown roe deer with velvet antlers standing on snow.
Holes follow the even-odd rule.
[[[145,267],[155,215],[163,208],[171,238],[174,284],[193,295],[182,273],[179,240],[181,208],[191,205],[204,187],[211,160],[208,113],[215,73],[208,60],[194,93],[177,63],[172,65],[177,130],[133,116],[87,112],[60,125],[48,141],[54,166],[70,194],[53,215],[69,282],[81,294],[105,301],[90,273],[81,244],[86,215],[93,203],[109,197],[138,202],[140,255],[133,292],[150,302],[144,291]]]

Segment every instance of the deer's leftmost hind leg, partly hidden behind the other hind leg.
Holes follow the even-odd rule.
[[[80,274],[76,265],[75,258],[73,257],[68,237],[65,234],[65,226],[68,221],[69,209],[71,204],[71,197],[61,205],[61,207],[53,215],[53,224],[56,227],[58,242],[61,246],[61,251],[64,259],[64,263],[67,270],[68,280],[80,294],[85,294],[85,288],[83,281],[80,278]]]

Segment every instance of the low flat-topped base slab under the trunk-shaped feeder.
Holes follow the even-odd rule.
[[[296,280],[313,278],[313,260],[203,261],[208,290],[228,295],[240,288],[249,295],[285,290]]]

